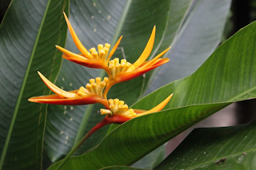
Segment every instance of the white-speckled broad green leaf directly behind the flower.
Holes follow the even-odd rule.
[[[162,45],[167,24],[172,26],[172,31],[169,33],[176,34],[189,6],[190,0],[161,2],[77,0],[70,3],[70,22],[87,49],[105,42],[111,42],[114,45],[119,36],[123,35],[114,57],[124,57],[123,50],[127,60],[134,62],[145,48],[153,26],[157,26],[157,36],[151,57],[156,55],[159,46]],[[171,14],[170,11],[172,11]],[[174,11],[178,15],[174,15]],[[167,20],[170,21],[167,23]],[[66,48],[78,53],[69,34]],[[56,85],[66,90],[78,89],[82,85],[85,86],[90,78],[97,76],[102,76],[102,72],[84,68],[70,61],[63,61]],[[143,79],[139,77],[122,85],[114,85],[108,97],[119,97],[128,105],[134,103],[142,93]],[[127,93],[129,91],[130,95]],[[54,162],[65,156],[90,128],[102,120],[103,116],[98,112],[100,108],[102,105],[49,106],[45,149],[50,160]],[[107,127],[102,128],[91,136],[77,154],[84,153],[97,145],[105,136],[106,130]]]

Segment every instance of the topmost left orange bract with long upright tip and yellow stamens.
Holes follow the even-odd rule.
[[[119,43],[121,42],[121,38],[119,38],[118,42],[114,45],[113,49],[110,51],[110,44],[106,43],[105,45],[98,45],[98,52],[95,48],[91,48],[90,52],[82,45],[82,42],[78,39],[78,36],[75,34],[74,29],[70,25],[66,14],[64,13],[64,17],[66,19],[66,24],[70,30],[71,37],[74,40],[74,44],[78,47],[81,54],[72,53],[69,50],[62,48],[61,46],[56,45],[56,48],[65,53],[62,55],[63,58],[73,61],[79,65],[84,65],[86,67],[95,68],[95,69],[104,69],[106,73],[111,77],[110,69],[108,67],[108,61],[110,61],[110,57],[114,54],[115,50],[118,48]],[[109,53],[109,54],[108,54]]]

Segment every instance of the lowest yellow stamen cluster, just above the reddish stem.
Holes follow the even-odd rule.
[[[134,113],[134,109],[128,109],[128,105],[125,104],[124,101],[119,101],[119,99],[109,99],[108,100],[110,105],[109,109],[101,109],[101,114],[106,114],[107,116],[111,117],[114,114],[124,114],[127,116],[136,116]]]

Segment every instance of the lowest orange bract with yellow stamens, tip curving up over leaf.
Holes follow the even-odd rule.
[[[102,115],[106,114],[105,119],[107,124],[122,124],[123,122],[129,121],[135,117],[141,117],[146,114],[161,111],[170,101],[172,96],[173,94],[170,94],[170,96],[162,101],[159,105],[148,111],[140,109],[129,109],[128,105],[126,105],[124,101],[119,101],[118,99],[109,99],[108,102],[110,109],[101,109],[100,113]]]

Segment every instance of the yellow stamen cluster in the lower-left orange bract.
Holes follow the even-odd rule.
[[[86,88],[83,86],[79,88],[77,94],[84,96],[86,94],[98,94],[103,97],[103,89],[106,87],[109,78],[104,77],[103,81],[101,77],[96,77],[90,79],[90,83],[87,83]]]

